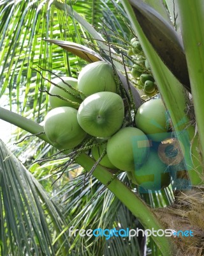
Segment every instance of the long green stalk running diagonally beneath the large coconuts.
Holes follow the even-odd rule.
[[[48,140],[45,134],[42,134],[44,131],[43,126],[37,124],[33,120],[29,120],[23,116],[18,115],[17,113],[13,113],[4,108],[0,108],[0,118],[6,122],[10,122],[10,124],[17,125],[21,129],[24,129],[31,134],[35,134],[42,140],[46,141],[50,145],[50,141]],[[92,166],[96,163],[91,157],[82,153],[77,157],[76,163],[80,164],[85,170],[90,171]],[[98,179],[102,184],[106,186],[106,188],[110,189],[112,193],[119,198],[119,200],[126,205],[126,207],[133,213],[133,215],[138,218],[140,223],[142,223],[145,229],[154,228],[154,230],[163,229],[164,227],[159,221],[159,218],[156,217],[153,210],[148,207],[143,200],[133,193],[131,189],[128,188],[124,183],[122,183],[117,177],[115,177],[112,173],[108,172],[106,168],[103,166],[96,166],[96,169],[92,173],[96,179]],[[111,181],[111,182],[110,182]],[[127,200],[128,198],[128,200]],[[165,256],[174,255],[173,248],[173,240],[172,237],[166,236],[153,236],[152,237],[157,244],[161,253]]]

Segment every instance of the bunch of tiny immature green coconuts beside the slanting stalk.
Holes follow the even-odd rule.
[[[131,46],[128,50],[128,56],[133,62],[131,75],[135,81],[136,87],[143,90],[148,97],[154,97],[157,94],[157,85],[152,76],[150,65],[145,58],[142,46],[136,37],[131,39]]]

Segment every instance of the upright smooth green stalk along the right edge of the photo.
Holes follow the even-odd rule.
[[[191,81],[194,113],[200,140],[200,151],[204,156],[204,6],[202,0],[177,0],[182,38],[186,52],[187,67]]]

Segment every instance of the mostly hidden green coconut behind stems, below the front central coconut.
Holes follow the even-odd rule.
[[[103,138],[98,138],[96,140],[96,143],[100,143],[104,141]],[[107,142],[103,143],[101,145],[99,145],[98,147],[92,147],[91,149],[91,154],[92,157],[97,161],[99,159],[99,157],[101,156],[101,154],[103,153],[103,151],[106,149],[107,146]],[[106,168],[109,169],[117,169],[109,160],[108,155],[105,154],[105,156],[101,159],[100,163],[102,166],[105,166]]]

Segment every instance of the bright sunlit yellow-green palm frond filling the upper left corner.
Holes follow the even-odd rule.
[[[78,66],[81,63],[75,56],[68,56],[59,47],[43,41],[43,38],[69,38],[74,42],[76,38],[75,28],[69,25],[70,18],[57,10],[52,2],[0,2],[0,19],[4,21],[0,28],[0,66],[3,71],[0,79],[4,79],[1,95],[8,88],[10,107],[16,105],[20,113],[33,109],[34,117],[40,116],[44,106],[47,109],[48,99],[38,89],[43,90],[49,84],[31,68],[39,65],[56,74],[77,76],[75,63],[77,61]],[[48,79],[50,77],[48,74]]]

